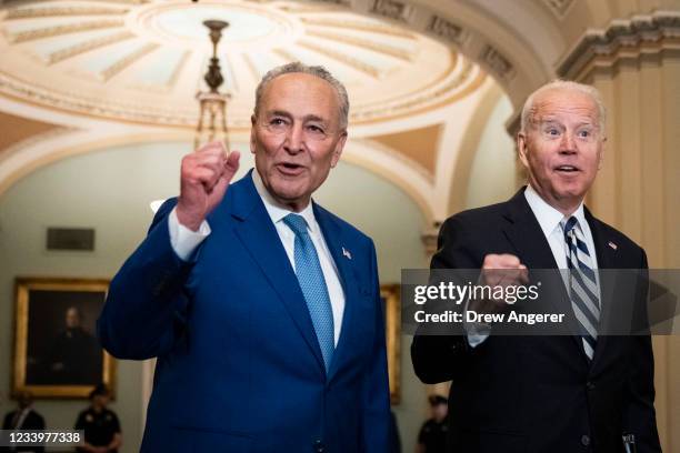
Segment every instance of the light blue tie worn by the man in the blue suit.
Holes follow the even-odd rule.
[[[333,310],[328,295],[328,286],[321,271],[321,263],[314,243],[307,231],[307,221],[302,215],[288,214],[283,222],[296,233],[296,274],[307,301],[307,309],[317,332],[317,340],[323,355],[326,371],[336,350]]]

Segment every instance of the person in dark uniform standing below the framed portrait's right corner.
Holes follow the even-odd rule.
[[[90,393],[90,406],[78,415],[76,430],[84,430],[84,445],[79,452],[117,453],[122,444],[120,423],[109,404],[109,389],[99,384]]]

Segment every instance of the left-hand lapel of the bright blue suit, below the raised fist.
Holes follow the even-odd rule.
[[[252,172],[252,170],[251,170]],[[293,272],[286,249],[267,209],[258,194],[249,173],[233,184],[231,194],[231,215],[237,219],[234,232],[260,266],[262,273],[279,294],[298,330],[324,370],[319,341],[309,315],[304,295]]]

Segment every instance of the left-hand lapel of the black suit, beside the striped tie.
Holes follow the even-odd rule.
[[[508,212],[506,214],[508,224],[504,229],[504,234],[510,243],[516,249],[518,256],[522,260],[522,263],[531,271],[532,269],[551,270],[558,269],[552,250],[548,243],[546,234],[539,224],[531,207],[527,202],[524,197],[524,189],[520,190],[508,203]],[[561,279],[560,272],[547,273],[552,278],[551,282],[544,288],[559,289],[556,292],[556,298],[548,298],[548,303],[551,303],[554,308],[554,313],[567,314],[567,322],[569,323],[570,332],[578,332],[577,320],[571,308],[571,301],[569,294],[564,288],[564,282]],[[546,284],[546,283],[543,283]],[[587,362],[586,352],[581,344],[581,339],[576,335],[570,335],[573,340],[572,343],[578,348],[581,359]]]

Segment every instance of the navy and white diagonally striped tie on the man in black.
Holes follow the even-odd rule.
[[[569,248],[567,263],[569,264],[569,299],[580,324],[580,336],[583,350],[590,360],[594,354],[600,323],[600,291],[588,252],[588,245],[576,217],[563,222],[564,241]]]

